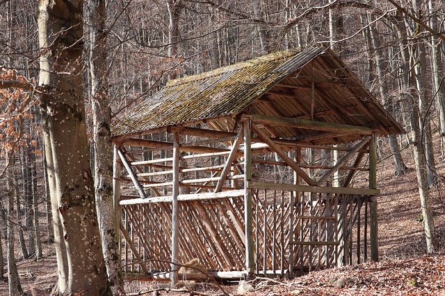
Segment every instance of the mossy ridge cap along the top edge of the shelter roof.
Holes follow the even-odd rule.
[[[252,67],[256,64],[261,64],[263,62],[270,62],[270,61],[274,61],[274,60],[281,60],[281,59],[285,59],[285,58],[291,58],[294,55],[298,55],[298,53],[301,52],[300,47],[295,47],[292,49],[287,49],[286,51],[277,51],[275,53],[269,53],[268,55],[262,55],[261,57],[257,57],[257,58],[252,58],[250,60],[246,60],[243,62],[237,62],[236,64],[230,64],[227,65],[225,67],[220,67],[217,69],[213,69],[207,72],[203,72],[203,73],[199,73],[199,74],[195,74],[192,76],[184,76],[181,78],[177,78],[177,79],[173,79],[173,80],[169,80],[167,82],[167,85],[165,85],[166,87],[172,87],[175,85],[181,85],[184,83],[188,83],[188,82],[193,82],[193,81],[197,81],[197,80],[202,80],[205,78],[209,78],[212,76],[218,76],[221,75],[223,73],[227,73],[229,71],[236,71],[238,69],[243,69],[245,67]]]

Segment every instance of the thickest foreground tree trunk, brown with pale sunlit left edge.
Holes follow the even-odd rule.
[[[83,1],[40,1],[38,32],[58,293],[112,295],[97,225],[83,105]]]

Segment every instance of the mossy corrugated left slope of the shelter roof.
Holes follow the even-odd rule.
[[[113,122],[113,137],[237,114],[276,82],[321,53],[290,49],[213,71],[171,80]]]

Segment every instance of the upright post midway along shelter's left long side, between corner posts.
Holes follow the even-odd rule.
[[[173,185],[172,185],[172,264],[171,264],[171,286],[176,286],[179,276],[177,263],[179,255],[179,132],[173,132]]]

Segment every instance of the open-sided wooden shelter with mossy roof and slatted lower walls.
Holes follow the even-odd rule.
[[[112,132],[127,272],[378,260],[375,137],[404,131],[330,49],[171,80]]]

